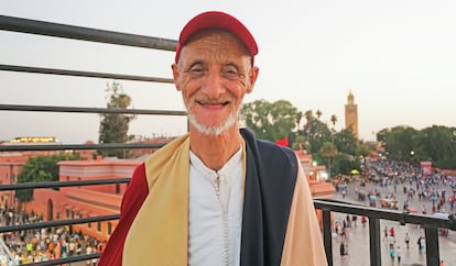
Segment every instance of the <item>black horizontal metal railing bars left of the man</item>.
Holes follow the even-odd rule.
[[[112,31],[104,31],[97,29],[88,29],[73,25],[65,25],[58,23],[50,23],[44,21],[28,20],[21,18],[0,15],[0,30],[11,31],[26,34],[37,34],[45,36],[54,36],[62,38],[80,40],[88,42],[118,44],[132,47],[142,47],[162,51],[175,51],[176,41],[134,34],[127,34]],[[0,62],[1,63],[1,62]],[[0,64],[0,70],[14,71],[24,74],[44,74],[44,75],[59,75],[74,77],[89,77],[89,78],[109,78],[121,80],[134,80],[145,82],[162,82],[172,84],[170,78],[149,77],[149,76],[133,76],[110,73],[94,73],[80,71],[69,69],[55,69],[32,66],[15,66]],[[146,110],[146,109],[105,109],[105,108],[80,108],[80,107],[54,107],[54,106],[24,106],[24,104],[6,104],[0,103],[0,111],[24,111],[24,112],[72,112],[72,113],[119,113],[119,114],[141,114],[141,115],[181,115],[185,117],[185,111],[174,110]],[[0,152],[25,152],[25,151],[67,151],[67,149],[113,149],[113,148],[160,148],[163,143],[104,143],[104,144],[46,144],[46,145],[0,145]],[[82,180],[82,181],[55,181],[55,182],[40,182],[40,184],[11,184],[1,185],[0,191],[19,190],[19,189],[40,189],[40,188],[59,188],[59,187],[77,187],[77,186],[94,186],[108,184],[126,184],[130,178],[119,178],[113,180]],[[42,228],[54,228],[72,224],[83,224],[89,222],[100,222],[119,219],[119,214],[100,215],[70,220],[47,221],[40,223],[20,224],[1,226],[0,233],[36,230]],[[31,265],[59,265],[69,264],[74,262],[82,262],[93,258],[98,258],[100,254],[94,253],[89,255],[78,255],[67,258],[59,258],[48,262],[34,263]]]

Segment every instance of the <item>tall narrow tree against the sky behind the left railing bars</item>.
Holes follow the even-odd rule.
[[[127,109],[131,104],[131,97],[123,93],[122,86],[119,82],[108,84],[109,92],[108,109]],[[133,136],[128,135],[129,124],[135,119],[133,114],[122,113],[104,113],[100,114],[99,143],[127,143]],[[129,157],[130,153],[123,149],[100,149],[99,154],[104,156],[115,156],[119,158]]]

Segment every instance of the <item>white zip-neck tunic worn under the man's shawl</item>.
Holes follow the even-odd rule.
[[[191,152],[188,265],[239,265],[242,191],[241,148],[218,171]]]

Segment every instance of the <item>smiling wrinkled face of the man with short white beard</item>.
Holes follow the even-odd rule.
[[[221,31],[199,33],[183,47],[173,76],[196,130],[219,135],[237,125],[243,96],[258,75],[250,64],[242,44]]]

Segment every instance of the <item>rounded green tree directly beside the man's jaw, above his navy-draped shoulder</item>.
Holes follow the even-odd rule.
[[[291,102],[279,100],[269,102],[256,100],[245,103],[241,110],[246,126],[252,130],[259,138],[276,141],[290,137],[297,129],[302,113]]]

